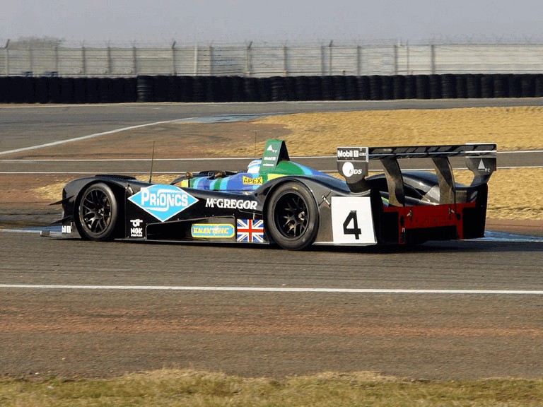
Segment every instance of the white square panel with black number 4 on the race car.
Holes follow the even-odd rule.
[[[369,196],[332,196],[332,233],[335,244],[376,244]]]

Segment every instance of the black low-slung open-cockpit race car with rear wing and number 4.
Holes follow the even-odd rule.
[[[474,173],[457,184],[450,157]],[[434,172],[400,170],[399,160],[430,158]],[[370,160],[383,172],[368,176]],[[496,144],[338,147],[338,179],[288,157],[269,140],[240,172],[187,172],[170,184],[124,175],[75,179],[62,191],[62,234],[85,240],[147,240],[366,246],[484,237],[487,182]]]

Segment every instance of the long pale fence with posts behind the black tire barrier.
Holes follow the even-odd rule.
[[[85,46],[10,42],[0,76],[393,76],[543,73],[543,44]]]

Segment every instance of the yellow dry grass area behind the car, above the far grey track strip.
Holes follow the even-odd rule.
[[[334,154],[336,146],[411,146],[493,142],[499,150],[543,147],[543,107],[385,110],[269,116],[255,124],[283,126],[291,155]],[[233,146],[246,156],[254,146]],[[262,151],[264,142],[257,148]]]

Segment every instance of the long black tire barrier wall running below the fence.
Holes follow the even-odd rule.
[[[393,76],[0,77],[1,103],[543,98],[543,73]]]

